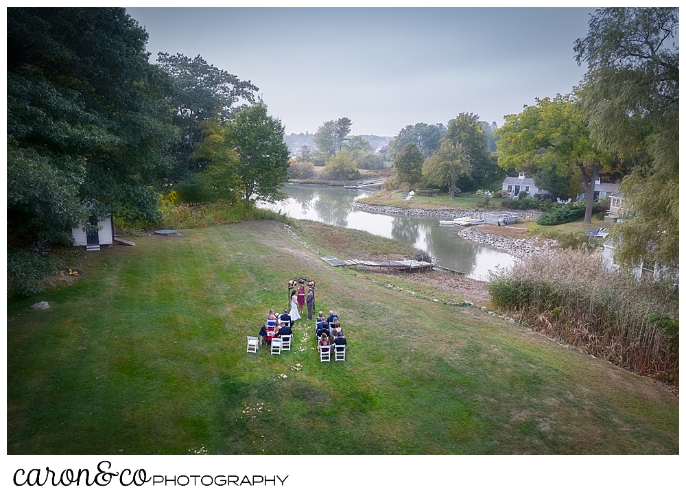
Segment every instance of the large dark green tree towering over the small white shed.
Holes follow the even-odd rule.
[[[156,220],[178,140],[169,82],[122,8],[8,8],[8,245],[71,241],[118,213]]]

